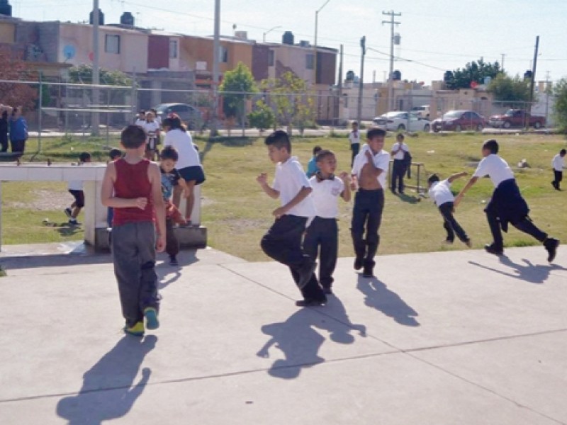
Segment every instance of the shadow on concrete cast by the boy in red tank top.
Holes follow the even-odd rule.
[[[126,335],[83,375],[77,395],[64,397],[57,403],[57,415],[69,425],[100,425],[125,416],[140,397],[151,371],[142,369],[142,377],[134,380],[157,342],[154,335],[144,339]]]

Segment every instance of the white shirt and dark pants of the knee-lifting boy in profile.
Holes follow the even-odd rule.
[[[281,205],[286,205],[296,197],[301,188],[310,187],[309,181],[297,157],[276,164],[276,176],[272,188],[279,192]],[[309,195],[295,205],[286,215],[276,218],[274,225],[262,237],[260,246],[267,256],[289,267],[291,276],[299,287],[301,270],[313,263],[308,254],[303,252],[301,239],[308,220],[315,217],[315,205]],[[325,301],[326,297],[319,285],[315,273],[308,283],[300,288],[304,300]]]

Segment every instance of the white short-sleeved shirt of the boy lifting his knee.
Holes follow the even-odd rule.
[[[276,176],[271,187],[279,192],[281,206],[283,206],[295,198],[301,188],[311,186],[297,157],[291,157],[286,162],[276,164]],[[298,217],[315,217],[313,198],[308,195],[287,213]]]

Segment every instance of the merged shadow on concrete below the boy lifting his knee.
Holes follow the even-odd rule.
[[[344,305],[332,295],[325,307],[302,308],[291,314],[285,322],[262,326],[262,332],[271,338],[257,352],[257,356],[270,357],[270,348],[278,348],[284,358],[274,361],[268,373],[274,378],[298,378],[303,368],[310,368],[325,361],[318,355],[325,336],[315,329],[327,331],[331,341],[352,344],[353,331],[366,336],[363,324],[352,324]]]

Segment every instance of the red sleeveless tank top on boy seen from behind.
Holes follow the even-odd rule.
[[[154,203],[152,201],[152,183],[147,178],[147,167],[150,161],[142,159],[137,164],[128,164],[120,158],[114,162],[116,181],[114,196],[116,198],[147,198],[146,208],[114,208],[113,226],[125,225],[131,222],[153,221]]]

